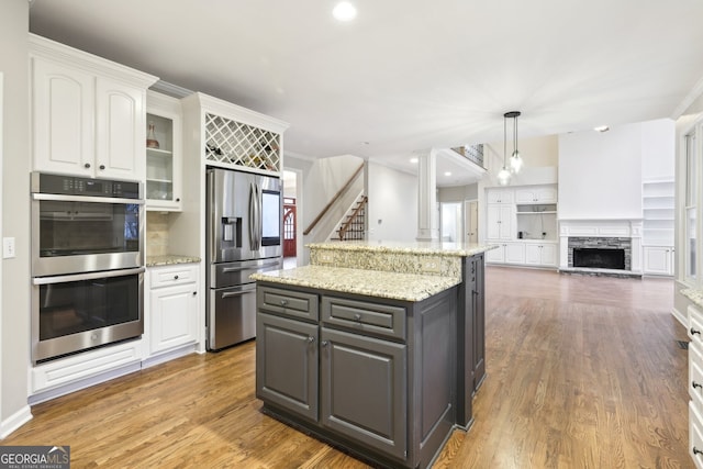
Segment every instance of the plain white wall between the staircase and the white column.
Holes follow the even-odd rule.
[[[369,163],[368,197],[369,239],[415,241],[416,176]]]

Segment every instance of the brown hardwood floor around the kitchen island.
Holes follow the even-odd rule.
[[[435,468],[692,468],[685,330],[668,279],[487,269],[475,424]],[[263,415],[255,343],[37,404],[2,445],[70,445],[75,468],[364,468]]]

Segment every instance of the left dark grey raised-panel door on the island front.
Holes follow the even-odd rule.
[[[317,422],[317,325],[259,312],[256,331],[257,398]]]

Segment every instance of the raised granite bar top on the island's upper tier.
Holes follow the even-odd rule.
[[[399,241],[345,241],[333,243],[312,243],[305,245],[315,249],[356,250],[375,253],[427,254],[435,256],[469,257],[498,248],[496,244],[466,244],[442,241],[399,242]]]

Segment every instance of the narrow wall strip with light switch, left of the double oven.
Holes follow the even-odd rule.
[[[2,236],[15,238],[15,258],[2,259],[0,303],[0,438],[31,417],[30,366],[30,91],[29,2],[0,7],[3,72]]]

